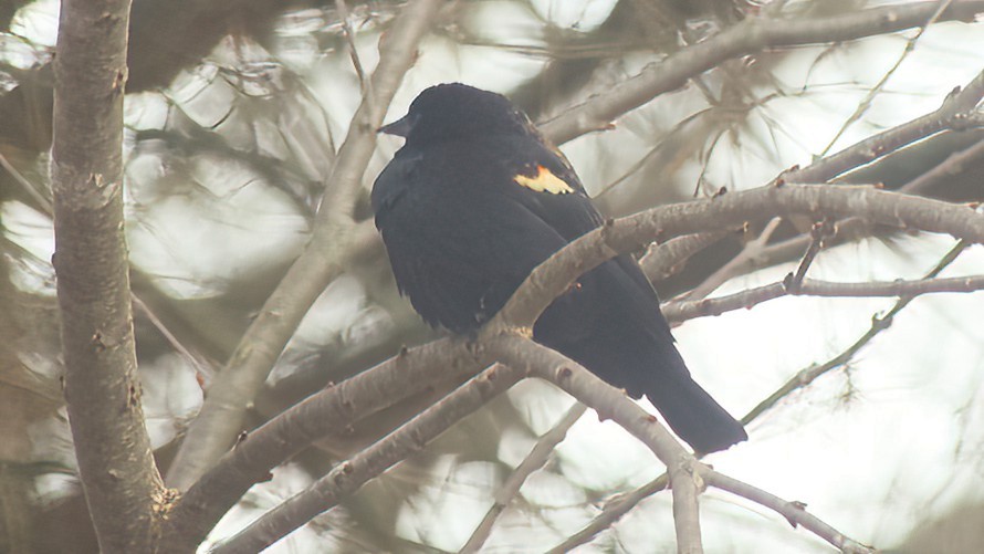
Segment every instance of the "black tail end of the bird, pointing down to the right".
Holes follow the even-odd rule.
[[[724,450],[749,439],[744,427],[724,410],[706,390],[689,375],[673,376],[681,383],[668,386],[660,383],[647,393],[649,401],[666,418],[667,424],[698,453]]]

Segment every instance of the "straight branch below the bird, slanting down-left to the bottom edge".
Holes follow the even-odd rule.
[[[496,364],[431,406],[399,429],[348,461],[335,466],[304,492],[295,494],[232,537],[217,545],[214,554],[260,552],[315,515],[358,491],[368,480],[419,452],[438,435],[474,412],[523,377],[521,372]]]

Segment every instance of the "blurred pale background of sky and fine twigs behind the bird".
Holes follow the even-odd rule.
[[[806,19],[863,0],[485,0],[444,7],[386,121],[421,90],[461,81],[509,95],[536,122],[604,95],[648,64],[749,18]],[[126,217],[144,409],[166,468],[203,390],[306,243],[335,153],[400,2],[135,0],[126,96]],[[0,0],[0,552],[95,552],[75,478],[59,376],[50,186],[53,0]],[[936,109],[984,69],[984,23],[767,50],[733,59],[562,149],[599,209],[618,217],[767,184],[783,170]],[[984,139],[934,135],[845,177],[898,188]],[[368,190],[401,145],[380,137]],[[978,148],[980,149],[980,148]],[[921,194],[984,198],[984,157]],[[720,296],[782,281],[808,228],[733,233],[656,282],[661,297]],[[867,229],[821,251],[814,279],[919,279],[951,237]],[[732,263],[730,263],[732,262]],[[984,274],[963,250],[944,276]],[[984,544],[984,294],[923,295],[871,332],[898,299],[781,297],[679,323],[695,378],[742,416],[800,370],[840,356],[708,458],[886,551]],[[869,336],[870,335],[870,336]],[[250,412],[260,425],[328,383],[430,341],[396,293],[380,244],[322,294]],[[860,342],[860,347],[851,345]],[[845,354],[847,353],[847,354]],[[537,437],[572,406],[522,383],[423,453],[366,485],[271,552],[458,551]],[[648,407],[650,410],[651,407]],[[241,529],[338,460],[312,447],[254,487],[213,532]],[[663,471],[590,410],[502,514],[488,552],[542,552]],[[709,552],[827,552],[781,516],[726,493],[701,496]],[[975,548],[976,546],[976,548]],[[636,505],[577,552],[673,552],[668,493]]]

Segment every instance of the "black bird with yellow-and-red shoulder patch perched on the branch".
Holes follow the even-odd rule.
[[[373,187],[376,227],[400,292],[431,325],[474,332],[533,268],[603,221],[567,159],[500,94],[432,86],[379,130],[406,144]],[[649,397],[699,452],[747,439],[690,377],[631,257],[578,284],[536,321],[537,343]]]

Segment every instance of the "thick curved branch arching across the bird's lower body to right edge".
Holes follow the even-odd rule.
[[[653,238],[731,229],[763,217],[805,213],[814,219],[859,217],[873,222],[984,242],[984,213],[872,187],[786,185],[653,208],[608,221],[537,266],[488,326],[528,328],[578,275]]]

